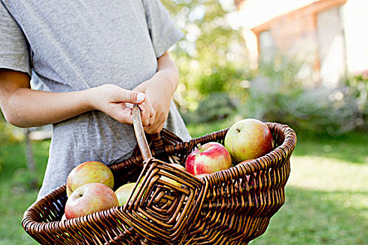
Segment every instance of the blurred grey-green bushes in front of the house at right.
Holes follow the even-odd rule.
[[[261,70],[252,80],[249,99],[239,109],[241,116],[329,135],[343,134],[364,124],[367,80],[353,78],[349,84],[334,89],[306,88],[306,82],[297,78],[295,67],[291,64],[282,69]],[[365,86],[351,85],[358,81]]]

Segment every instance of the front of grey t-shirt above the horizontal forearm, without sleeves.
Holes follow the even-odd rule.
[[[4,0],[29,42],[33,72],[50,91],[106,83],[132,89],[157,60],[140,0]]]

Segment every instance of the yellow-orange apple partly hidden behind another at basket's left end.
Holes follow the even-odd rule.
[[[86,183],[102,183],[114,188],[114,175],[103,162],[88,161],[74,167],[67,178],[67,196],[70,197],[80,186]]]

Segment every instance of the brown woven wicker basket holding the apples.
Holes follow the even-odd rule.
[[[227,130],[185,142],[163,130],[151,139],[151,152],[111,165],[116,187],[141,182],[128,204],[60,221],[64,185],[29,207],[22,226],[41,244],[248,244],[285,202],[297,141],[287,125],[266,124],[273,134],[271,153],[203,179],[169,163],[184,165],[198,143],[223,144]]]

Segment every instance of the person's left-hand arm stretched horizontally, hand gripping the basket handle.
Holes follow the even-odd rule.
[[[35,127],[58,123],[86,111],[100,110],[121,123],[132,124],[131,109],[125,102],[140,104],[143,125],[148,125],[150,110],[144,94],[116,85],[102,85],[76,92],[31,90],[29,76],[19,71],[0,69],[0,107],[8,123]]]

